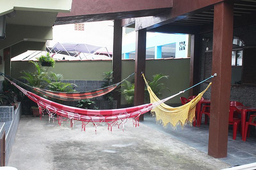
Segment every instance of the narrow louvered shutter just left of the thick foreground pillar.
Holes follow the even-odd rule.
[[[204,52],[204,79],[212,76],[212,50]],[[212,79],[209,79],[205,82],[211,82]]]

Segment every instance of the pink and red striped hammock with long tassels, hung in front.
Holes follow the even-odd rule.
[[[71,107],[62,105],[51,100],[47,100],[43,97],[40,97],[32,92],[29,92],[19,85],[15,84],[8,78],[4,77],[6,80],[11,82],[14,86],[16,86],[21,92],[23,92],[29,99],[33,100],[37,103],[41,116],[43,115],[44,111],[49,114],[49,122],[50,119],[58,120],[58,124],[61,125],[63,121],[70,120],[70,126],[73,128],[74,122],[82,121],[82,130],[85,131],[85,126],[92,122],[95,126],[95,132],[97,130],[97,126],[105,122],[108,124],[108,130],[112,131],[113,126],[121,125],[122,129],[124,128],[124,123],[129,119],[132,118],[133,125],[135,127],[139,126],[139,117],[142,114],[147,113],[152,108],[160,105],[161,103],[179,95],[182,92],[179,92],[175,95],[172,95],[168,98],[160,100],[155,103],[144,104],[140,106],[128,107],[128,108],[121,108],[121,109],[112,109],[112,110],[90,110],[90,109],[82,109],[77,107]]]

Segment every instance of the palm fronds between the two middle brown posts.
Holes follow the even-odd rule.
[[[134,100],[134,83],[131,83],[127,80],[121,84],[121,88],[118,90],[121,94],[124,95],[124,99],[128,105],[133,104]]]

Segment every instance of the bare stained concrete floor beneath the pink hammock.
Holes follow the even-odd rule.
[[[154,118],[151,118],[154,119]],[[97,135],[90,124],[81,132],[81,122],[48,123],[47,116],[22,115],[8,166],[19,170],[79,169],[222,169],[219,159],[183,144],[168,134],[132,121],[110,133],[105,124]]]

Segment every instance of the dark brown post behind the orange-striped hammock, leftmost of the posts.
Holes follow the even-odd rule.
[[[114,40],[113,40],[113,83],[121,81],[122,72],[122,26],[121,19],[114,20]],[[120,108],[121,94],[117,89],[113,92],[114,100],[117,100],[117,108]]]

